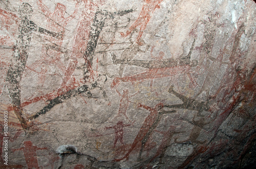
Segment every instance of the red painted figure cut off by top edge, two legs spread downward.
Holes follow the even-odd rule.
[[[160,8],[159,4],[163,0],[144,0],[145,4],[142,6],[141,12],[137,20],[131,25],[128,31],[126,33],[121,33],[123,37],[126,37],[131,34],[131,32],[140,25],[140,32],[137,37],[137,43],[140,44],[140,38],[143,34],[143,31],[146,29],[147,23],[151,19],[152,13],[155,11],[156,8]]]

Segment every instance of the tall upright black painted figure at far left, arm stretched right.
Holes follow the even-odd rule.
[[[8,90],[13,104],[14,113],[17,116],[20,124],[24,129],[28,128],[26,120],[23,118],[23,110],[20,108],[20,86],[19,82],[22,79],[23,72],[26,67],[27,59],[29,56],[30,42],[33,32],[45,34],[55,38],[62,38],[62,35],[42,27],[37,26],[30,20],[33,9],[28,3],[23,3],[19,7],[20,24],[18,27],[19,35],[17,45],[14,48],[13,60],[7,72],[6,81],[9,82]]]

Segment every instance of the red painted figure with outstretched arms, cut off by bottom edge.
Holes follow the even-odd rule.
[[[23,143],[25,147],[14,149],[13,151],[20,151],[23,150],[24,156],[28,165],[29,169],[32,168],[40,168],[37,161],[37,155],[36,150],[46,150],[47,148],[38,148],[36,146],[33,146],[31,141],[26,141]]]

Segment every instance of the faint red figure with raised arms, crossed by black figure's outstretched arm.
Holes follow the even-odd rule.
[[[47,23],[48,23],[47,29],[54,31],[56,33],[61,32],[62,34],[65,33],[65,27],[68,24],[68,22],[75,17],[77,13],[77,7],[78,7],[78,4],[76,4],[76,9],[74,13],[69,17],[65,18],[64,17],[66,12],[65,5],[57,3],[54,12],[51,13],[50,10],[47,8],[47,6],[45,6],[41,0],[38,0],[37,4],[39,6],[39,9],[47,17]],[[27,66],[29,68],[29,72],[35,71],[38,73],[38,75],[40,76],[39,77],[40,80],[38,81],[38,83],[40,83],[41,85],[44,85],[44,81],[46,78],[47,69],[45,68],[45,65],[55,65],[60,70],[60,73],[65,72],[65,66],[63,66],[60,59],[61,51],[59,51],[59,48],[61,47],[63,42],[63,38],[57,39],[54,37],[45,36],[44,40],[47,44],[42,45],[41,57],[40,57],[41,59],[39,63],[35,62]],[[35,70],[38,65],[41,66],[40,72]],[[27,73],[29,72],[27,71]]]

